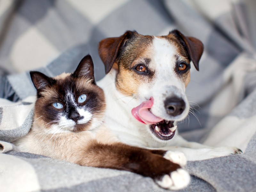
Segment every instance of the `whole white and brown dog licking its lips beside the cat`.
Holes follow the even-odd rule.
[[[180,151],[188,160],[241,153],[238,148],[212,148],[177,137],[175,124],[189,112],[185,88],[190,62],[198,70],[202,53],[200,40],[178,30],[167,36],[127,31],[100,42],[107,74],[98,82],[106,94],[105,121],[122,142]]]

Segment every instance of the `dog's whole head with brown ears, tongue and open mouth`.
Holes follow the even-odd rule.
[[[190,61],[198,70],[203,44],[178,30],[167,36],[143,36],[127,31],[100,42],[99,53],[106,73],[117,70],[116,88],[139,102],[132,115],[157,140],[170,140],[174,121],[188,115],[185,87],[190,80]]]

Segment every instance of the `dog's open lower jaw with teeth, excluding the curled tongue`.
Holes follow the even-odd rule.
[[[173,125],[174,121],[161,121],[156,124],[149,125],[152,133],[162,140],[170,140],[175,134],[177,125]]]

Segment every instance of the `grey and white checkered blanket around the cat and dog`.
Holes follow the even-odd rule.
[[[179,131],[244,152],[188,162],[192,179],[181,191],[255,191],[255,8],[254,0],[0,0],[0,191],[164,191],[150,178],[17,152],[11,142],[32,123],[36,91],[28,70],[72,72],[90,53],[99,80],[101,39],[128,29],[166,35],[174,28],[205,47],[187,88],[193,110]]]

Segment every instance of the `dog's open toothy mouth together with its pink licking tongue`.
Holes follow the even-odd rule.
[[[132,109],[132,116],[140,123],[149,124],[152,133],[161,140],[170,140],[175,134],[177,126],[174,126],[174,121],[166,121],[155,116],[150,112],[154,100],[151,97],[149,100],[142,102],[139,106]]]

